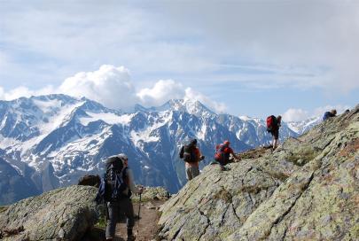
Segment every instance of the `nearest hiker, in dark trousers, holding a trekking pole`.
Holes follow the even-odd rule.
[[[121,153],[109,158],[106,162],[106,167],[107,183],[112,185],[112,190],[114,189],[113,185],[116,185],[117,190],[120,190],[120,193],[116,192],[114,194],[113,192],[113,197],[110,198],[106,204],[108,208],[108,220],[105,230],[106,240],[113,240],[116,223],[121,214],[125,214],[127,218],[127,240],[135,240],[136,237],[132,230],[135,225],[135,214],[130,197],[132,193],[140,194],[144,189],[143,187],[139,187],[138,189],[135,187],[133,174],[129,168],[129,159],[125,154]],[[118,175],[117,178],[123,181],[120,188],[116,183],[121,182],[115,182],[114,175]]]

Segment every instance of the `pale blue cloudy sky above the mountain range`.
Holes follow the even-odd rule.
[[[353,108],[359,1],[0,0],[0,100],[171,98],[303,121]]]

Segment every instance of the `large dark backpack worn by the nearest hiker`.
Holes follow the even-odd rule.
[[[116,201],[127,196],[123,193],[129,187],[126,175],[127,169],[128,167],[123,168],[120,158],[111,157],[107,159],[106,172],[101,178],[98,195],[95,198],[98,204]]]

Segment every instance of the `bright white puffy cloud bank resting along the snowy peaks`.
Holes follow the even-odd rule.
[[[191,89],[174,80],[160,80],[150,88],[136,89],[131,80],[129,69],[124,66],[100,66],[93,72],[81,72],[66,78],[58,88],[48,86],[43,89],[30,90],[18,87],[5,91],[0,86],[0,99],[12,100],[19,97],[31,97],[63,93],[73,97],[88,97],[109,108],[129,111],[136,104],[147,107],[158,106],[169,99],[194,99],[222,113],[226,105],[212,100],[210,97]]]

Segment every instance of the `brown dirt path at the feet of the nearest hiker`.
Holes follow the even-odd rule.
[[[137,236],[136,240],[149,241],[153,240],[157,231],[157,222],[159,222],[159,208],[164,203],[162,200],[151,200],[141,205],[140,219],[136,219],[134,234]],[[138,214],[138,204],[134,203],[135,216]],[[137,235],[138,229],[138,235]],[[126,221],[123,220],[117,223],[115,241],[127,240]]]

